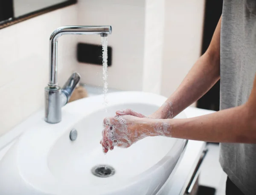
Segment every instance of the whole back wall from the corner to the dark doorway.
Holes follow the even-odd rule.
[[[79,0],[79,25],[112,25],[109,87],[170,96],[200,56],[204,0]],[[99,36],[81,42],[100,44]],[[86,55],[86,54],[84,54]],[[81,82],[102,86],[102,67],[79,63]]]

